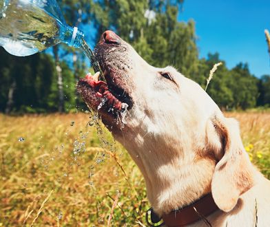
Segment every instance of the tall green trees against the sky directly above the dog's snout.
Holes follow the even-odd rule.
[[[185,76],[198,75],[198,50],[194,21],[178,21],[183,1],[91,1],[97,32],[117,32],[147,62],[157,67],[173,65]]]

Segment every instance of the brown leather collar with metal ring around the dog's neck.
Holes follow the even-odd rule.
[[[206,217],[214,213],[216,210],[218,210],[218,206],[216,206],[214,199],[211,195],[211,193],[205,195],[204,197],[198,199],[193,204],[190,204],[189,206],[185,206],[184,208],[180,208],[179,210],[173,210],[171,213],[167,215],[163,215],[163,224],[160,224],[158,226],[164,226],[167,227],[184,227],[188,226],[190,224],[194,224],[196,221],[203,220],[209,224],[209,221],[207,221]],[[153,209],[150,208],[147,211],[146,215],[146,221],[149,226],[155,226],[149,223],[148,216],[149,212],[151,213],[151,221],[153,224],[158,223],[161,219],[154,213]]]

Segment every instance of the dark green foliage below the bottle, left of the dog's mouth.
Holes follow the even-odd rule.
[[[5,111],[8,93],[15,84],[12,112],[45,113],[57,110],[57,80],[54,61],[49,54],[25,58],[0,50],[0,111]],[[72,71],[61,63],[66,105],[74,106],[75,85]]]

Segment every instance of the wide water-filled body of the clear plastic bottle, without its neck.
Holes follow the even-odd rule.
[[[28,0],[0,0],[0,45],[28,56],[59,43],[59,23]]]

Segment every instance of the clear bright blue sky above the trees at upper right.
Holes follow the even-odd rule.
[[[219,52],[229,68],[242,61],[255,76],[270,74],[270,0],[185,0],[178,19],[196,21],[200,58]]]

